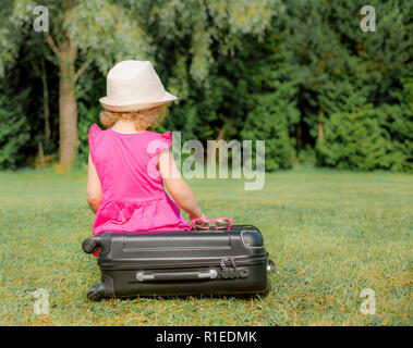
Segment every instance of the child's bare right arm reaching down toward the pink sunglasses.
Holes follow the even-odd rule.
[[[182,178],[169,149],[159,153],[159,172],[172,199],[190,214],[190,219],[206,217],[201,211],[191,187]]]

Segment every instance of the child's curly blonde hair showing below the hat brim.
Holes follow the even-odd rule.
[[[139,132],[149,127],[156,128],[167,115],[168,104],[162,104],[151,109],[127,112],[116,112],[104,109],[99,117],[101,124],[107,128],[112,127],[120,120],[133,121],[135,129]]]

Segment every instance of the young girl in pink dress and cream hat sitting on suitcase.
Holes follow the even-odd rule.
[[[148,61],[123,61],[109,72],[107,97],[100,99],[100,121],[109,128],[94,124],[88,135],[87,202],[96,213],[94,235],[191,229],[163,182],[190,219],[205,217],[173,162],[171,132],[146,130],[162,121],[175,99]]]

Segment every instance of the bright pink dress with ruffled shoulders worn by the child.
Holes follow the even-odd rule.
[[[89,128],[89,150],[100,178],[102,200],[94,235],[110,232],[191,229],[163,189],[158,154],[172,144],[172,134],[145,130],[121,134]]]

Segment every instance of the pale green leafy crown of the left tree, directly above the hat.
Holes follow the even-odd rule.
[[[84,60],[107,73],[122,60],[146,60],[149,39],[139,21],[119,1],[77,0],[61,24]]]

